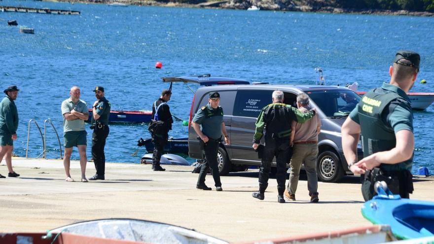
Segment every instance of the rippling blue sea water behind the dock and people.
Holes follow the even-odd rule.
[[[242,11],[149,6],[111,7],[2,0],[1,5],[72,9],[80,15],[0,12],[0,88],[17,85],[20,123],[14,153],[26,155],[28,121],[43,127],[50,118],[62,135],[60,105],[69,89],[81,88],[91,106],[93,88],[106,88],[112,109],[151,109],[168,84],[163,76],[211,73],[273,84],[313,84],[322,67],[327,84],[357,81],[368,90],[389,80],[388,69],[398,49],[421,54],[421,71],[413,92],[433,92],[434,18],[273,11]],[[35,29],[25,35],[6,20]],[[163,68],[157,70],[157,61]],[[427,84],[420,84],[426,79]],[[197,87],[193,86],[193,89]],[[172,112],[188,119],[193,94],[174,84]],[[434,105],[414,113],[415,166],[433,162]],[[43,130],[43,128],[42,128]],[[88,132],[90,157],[91,130]],[[170,136],[185,137],[187,127],[174,124]],[[113,125],[106,145],[110,162],[139,163],[145,154],[139,138],[149,137],[146,125]],[[47,157],[58,158],[59,145],[47,127]],[[42,152],[31,128],[29,156]],[[73,153],[78,158],[78,153]],[[192,159],[189,159],[193,162]]]

